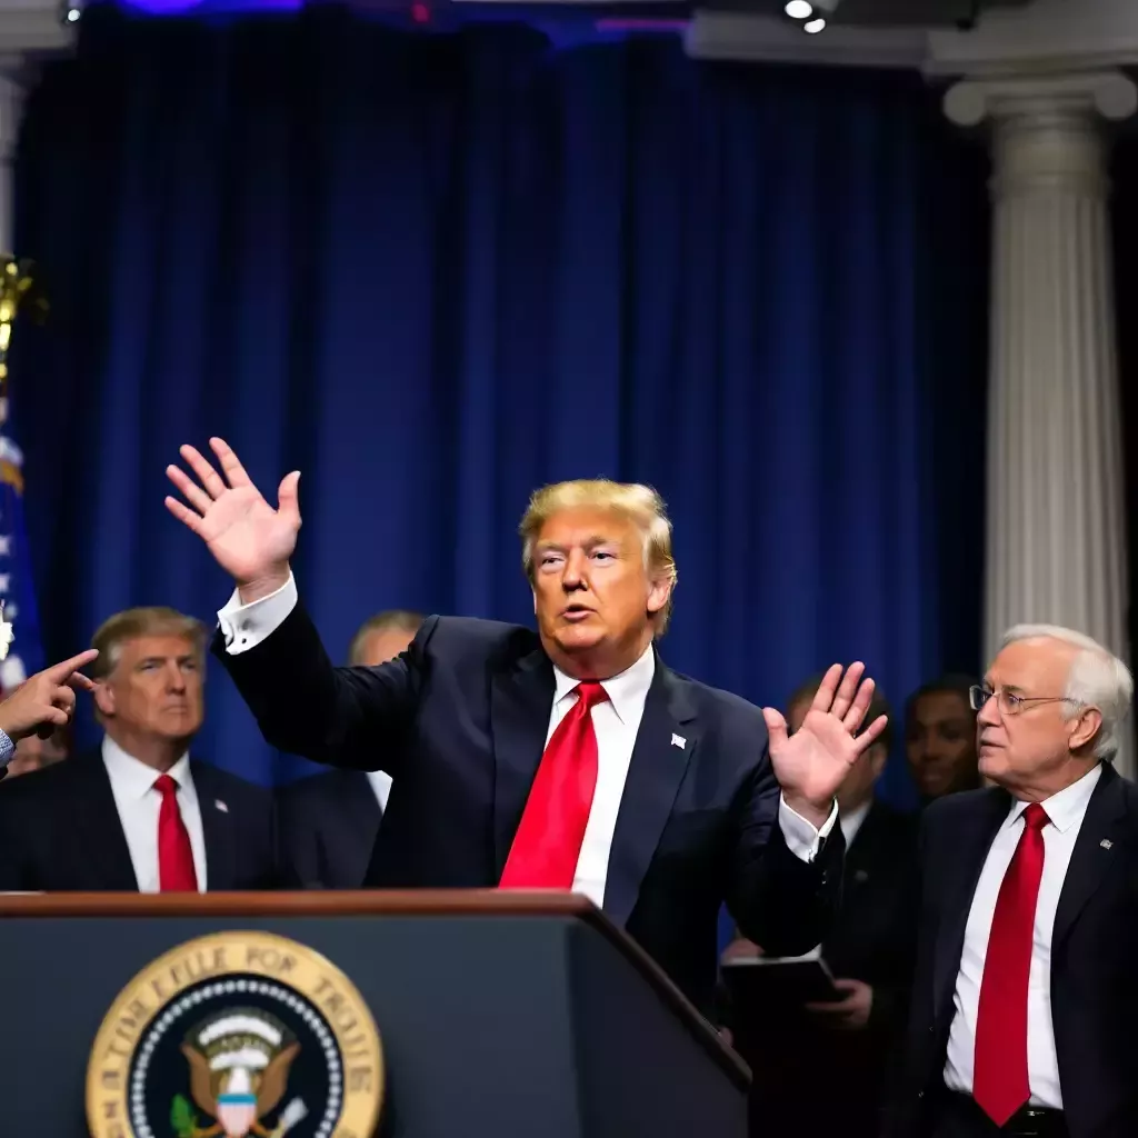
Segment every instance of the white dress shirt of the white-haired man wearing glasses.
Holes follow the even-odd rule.
[[[1052,930],[1055,910],[1066,877],[1074,843],[1087,815],[1090,795],[1102,777],[1102,765],[1089,770],[1077,783],[1053,794],[1040,805],[1049,824],[1044,826],[1044,875],[1036,902],[1036,926],[1031,949],[1031,972],[1028,981],[1028,1086],[1031,1104],[1063,1110],[1059,1092],[1059,1069],[1055,1056],[1055,1032],[1052,1026]],[[988,850],[972,897],[968,923],[964,931],[960,970],[956,975],[956,1014],[948,1036],[948,1062],[945,1082],[949,1089],[972,1094],[973,1058],[976,1048],[976,1014],[980,1008],[980,983],[988,955],[988,935],[996,900],[1004,875],[1023,833],[1026,802],[1014,802],[1007,818]]]

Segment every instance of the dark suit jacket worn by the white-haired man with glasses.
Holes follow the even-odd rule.
[[[916,975],[890,1138],[932,1132],[972,899],[1011,806],[1006,791],[989,787],[949,794],[924,813]],[[1104,766],[1052,932],[1052,1028],[1071,1138],[1138,1133],[1136,960],[1138,789]]]

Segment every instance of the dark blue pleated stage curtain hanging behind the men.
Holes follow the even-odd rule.
[[[163,471],[218,434],[270,495],[303,471],[335,657],[388,607],[531,620],[527,496],[605,475],[669,503],[673,667],[782,703],[859,658],[898,704],[975,667],[983,176],[915,76],[92,10],[18,160],[47,643],[131,604],[214,622]],[[204,754],[305,769],[208,688]]]

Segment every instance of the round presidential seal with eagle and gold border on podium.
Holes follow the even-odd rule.
[[[139,973],[86,1073],[92,1138],[373,1138],[382,1099],[363,997],[264,932],[201,937]]]

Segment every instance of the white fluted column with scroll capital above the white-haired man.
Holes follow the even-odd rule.
[[[965,80],[945,98],[955,123],[992,124],[987,659],[1031,621],[1130,660],[1104,119],[1136,106],[1118,72]],[[1131,777],[1132,740],[1131,725]]]

